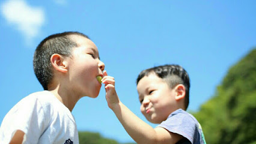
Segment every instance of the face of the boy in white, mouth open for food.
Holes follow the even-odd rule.
[[[72,92],[83,96],[96,98],[99,95],[101,83],[97,76],[103,77],[105,65],[99,59],[99,52],[93,41],[88,38],[72,35],[78,47],[73,48],[69,58],[69,82]]]

